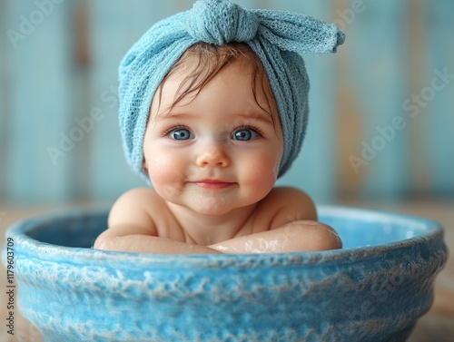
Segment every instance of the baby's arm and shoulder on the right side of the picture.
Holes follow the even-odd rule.
[[[303,192],[280,188],[262,212],[271,218],[270,230],[209,246],[223,253],[279,253],[341,249],[335,230],[317,221],[312,200]],[[272,216],[271,216],[272,213]]]

